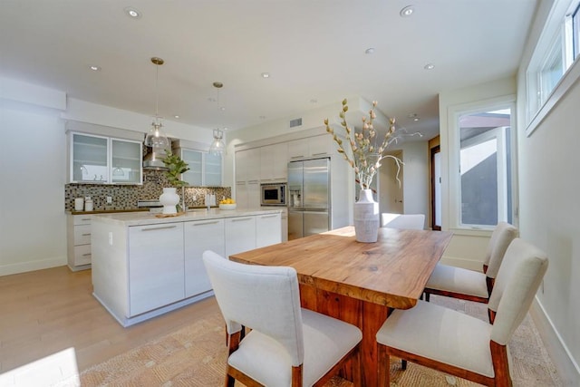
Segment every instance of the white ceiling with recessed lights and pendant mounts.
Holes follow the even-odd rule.
[[[150,58],[159,56],[166,120],[179,114],[184,123],[236,130],[333,103],[339,111],[344,97],[360,95],[430,138],[439,130],[439,92],[516,73],[536,0],[417,0],[414,14],[401,17],[410,4],[0,0],[0,76],[153,115]],[[127,6],[140,19],[125,15]],[[216,81],[225,111],[209,101]]]

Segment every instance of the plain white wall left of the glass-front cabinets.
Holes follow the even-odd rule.
[[[64,93],[0,82],[0,276],[63,266],[66,140],[53,106]],[[18,97],[8,100],[12,86]]]

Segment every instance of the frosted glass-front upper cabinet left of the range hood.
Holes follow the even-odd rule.
[[[71,133],[71,182],[141,184],[139,141]]]

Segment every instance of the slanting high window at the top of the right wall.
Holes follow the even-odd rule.
[[[580,70],[567,75],[580,53],[580,0],[556,0],[527,66],[527,134],[546,116]],[[577,62],[577,61],[576,61]],[[578,67],[578,66],[576,66]],[[556,90],[557,89],[557,90]]]

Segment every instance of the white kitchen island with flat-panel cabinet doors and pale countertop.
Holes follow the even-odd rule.
[[[280,209],[195,209],[94,215],[93,295],[122,325],[213,295],[201,255],[230,256],[280,242]]]

